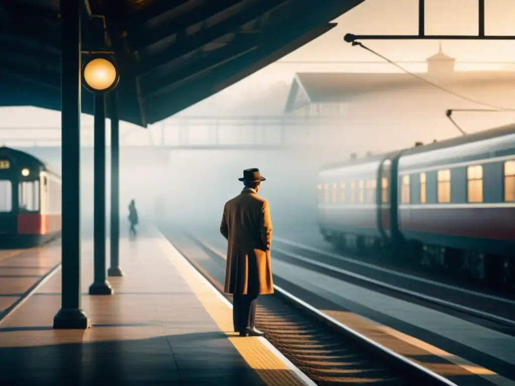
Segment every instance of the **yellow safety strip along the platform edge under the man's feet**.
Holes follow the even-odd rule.
[[[165,244],[166,243],[166,244]],[[186,283],[197,296],[202,306],[210,314],[221,331],[227,336],[239,355],[269,386],[305,385],[288,367],[257,338],[241,338],[232,332],[232,312],[230,307],[222,306],[222,301],[209,287],[210,285],[195,271],[188,262],[170,253],[167,241],[160,239],[160,246],[166,256],[179,271]],[[175,250],[175,248],[174,248]],[[230,331],[230,332],[229,332]]]

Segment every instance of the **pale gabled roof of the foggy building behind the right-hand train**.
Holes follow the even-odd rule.
[[[427,73],[418,73],[417,76],[445,86],[470,82],[479,86],[515,83],[515,71],[458,71],[436,78]],[[431,87],[407,73],[297,73],[290,87],[285,113],[312,103],[349,102],[371,92],[420,86]]]

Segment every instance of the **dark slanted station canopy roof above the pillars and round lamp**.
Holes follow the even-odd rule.
[[[119,116],[146,127],[317,38],[363,1],[83,0],[83,60],[113,53]],[[60,45],[59,0],[0,0],[0,106],[60,110]],[[93,113],[85,90],[82,111]]]

